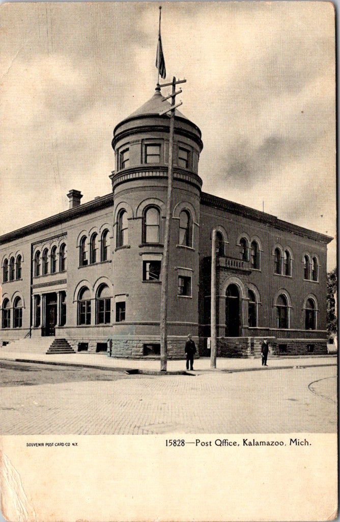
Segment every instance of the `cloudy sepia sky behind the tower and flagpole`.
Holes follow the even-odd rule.
[[[67,209],[71,188],[111,191],[113,128],[154,92],[158,21],[158,3],[1,6],[0,234]],[[203,190],[335,236],[332,5],[163,3],[162,43]]]

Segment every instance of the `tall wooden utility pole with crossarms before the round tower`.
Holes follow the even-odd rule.
[[[168,295],[168,266],[169,266],[169,242],[170,242],[170,224],[171,224],[171,197],[173,186],[173,149],[174,149],[174,129],[175,129],[175,109],[182,104],[182,102],[175,105],[175,98],[177,94],[176,85],[184,84],[187,80],[177,80],[175,76],[170,84],[157,84],[157,87],[168,87],[172,85],[172,93],[163,99],[163,101],[171,98],[171,108],[160,112],[160,116],[170,113],[170,128],[169,128],[169,159],[168,159],[168,175],[167,175],[167,197],[166,197],[166,218],[165,218],[165,234],[164,234],[164,249],[162,259],[162,288],[161,288],[161,372],[166,372],[167,363],[167,295]]]

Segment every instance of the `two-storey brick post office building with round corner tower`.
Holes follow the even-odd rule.
[[[27,338],[75,351],[160,351],[169,119],[160,90],[114,129],[112,193],[0,237],[2,345]],[[216,231],[217,354],[326,352],[329,236],[202,192],[200,129],[175,113],[168,356],[190,332],[208,354]],[[46,339],[47,338],[47,339]],[[61,341],[65,339],[65,341]],[[112,339],[112,343],[108,342]]]

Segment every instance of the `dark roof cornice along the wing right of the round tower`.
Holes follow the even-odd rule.
[[[239,203],[234,203],[234,201],[229,201],[227,199],[213,196],[205,192],[201,192],[201,204],[207,205],[209,207],[221,208],[222,210],[227,210],[228,212],[232,212],[238,216],[260,221],[265,224],[270,224],[272,227],[277,228],[278,230],[292,232],[298,236],[313,239],[321,243],[328,244],[334,239],[329,235],[299,227],[293,223],[289,223],[288,221],[278,219],[276,216],[272,216],[271,214],[261,212],[260,210],[256,210],[254,208],[246,207],[245,205],[240,205]]]

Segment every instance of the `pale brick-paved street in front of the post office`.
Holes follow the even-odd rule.
[[[127,376],[105,371],[102,377],[110,381],[88,381],[76,377],[77,369],[72,372],[74,377],[67,382],[45,379],[44,384],[3,387],[1,434],[335,433],[337,429],[335,366],[196,375]]]

